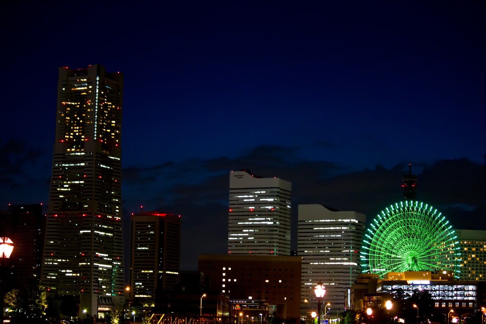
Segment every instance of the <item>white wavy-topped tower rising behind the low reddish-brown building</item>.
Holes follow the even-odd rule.
[[[228,253],[290,255],[292,183],[229,174]]]

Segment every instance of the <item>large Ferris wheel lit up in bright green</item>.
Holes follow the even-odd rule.
[[[452,226],[432,206],[400,201],[377,215],[364,234],[363,272],[452,270],[460,258]],[[457,252],[456,252],[457,251]]]

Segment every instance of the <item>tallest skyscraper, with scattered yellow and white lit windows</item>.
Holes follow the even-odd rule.
[[[124,296],[122,96],[122,73],[59,68],[41,283],[50,294],[77,296],[89,315]]]

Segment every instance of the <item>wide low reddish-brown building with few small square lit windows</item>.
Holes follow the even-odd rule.
[[[299,256],[254,254],[202,254],[198,270],[207,277],[209,293],[228,295],[230,316],[240,316],[241,323],[269,316],[287,320],[300,318]],[[242,315],[240,315],[242,313]]]

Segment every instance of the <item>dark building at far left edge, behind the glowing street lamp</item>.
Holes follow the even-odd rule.
[[[8,265],[12,273],[6,282],[6,291],[20,290],[39,283],[44,248],[46,217],[42,204],[9,205],[8,212],[1,214],[1,237],[14,242],[14,250]]]

